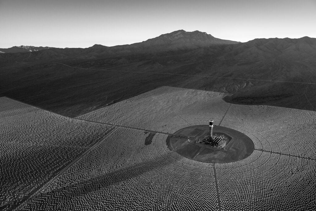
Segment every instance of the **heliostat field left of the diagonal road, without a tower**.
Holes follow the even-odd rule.
[[[18,208],[113,127],[0,98],[0,209]]]

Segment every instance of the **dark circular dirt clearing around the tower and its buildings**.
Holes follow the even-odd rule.
[[[213,127],[214,136],[225,137],[226,144],[212,147],[200,140],[209,134],[209,125],[183,128],[167,138],[167,146],[179,155],[205,163],[230,163],[252,154],[254,144],[245,134],[221,126]]]

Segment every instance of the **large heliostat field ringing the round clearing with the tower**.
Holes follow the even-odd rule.
[[[232,105],[222,100],[225,95],[160,87],[77,120],[63,120],[80,128],[116,129],[19,208],[311,210],[316,202],[316,112]],[[18,115],[29,112],[15,110]],[[248,136],[252,154],[236,162],[205,163],[168,149],[168,136],[210,119]],[[82,133],[96,134],[95,139],[100,137],[95,129]]]

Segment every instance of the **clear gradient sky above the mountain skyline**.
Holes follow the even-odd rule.
[[[142,42],[183,29],[220,39],[316,38],[316,0],[0,0],[0,48]]]

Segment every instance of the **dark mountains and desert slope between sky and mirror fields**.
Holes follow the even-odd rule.
[[[178,30],[131,45],[3,53],[0,63],[0,96],[68,116],[160,86],[231,93],[231,103],[316,107],[310,37],[240,43]]]

